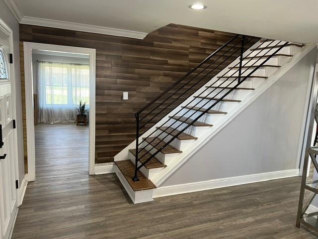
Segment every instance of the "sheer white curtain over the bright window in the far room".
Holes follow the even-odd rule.
[[[39,122],[75,122],[79,101],[89,107],[89,66],[38,61]]]

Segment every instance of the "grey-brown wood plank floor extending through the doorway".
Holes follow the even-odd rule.
[[[12,238],[318,238],[295,227],[299,177],[134,205],[115,174],[88,176],[87,129],[36,127],[37,178],[27,187]]]

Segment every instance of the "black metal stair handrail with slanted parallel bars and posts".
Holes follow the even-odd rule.
[[[185,74],[183,77],[181,77],[178,81],[176,81],[174,84],[172,84],[169,88],[167,88],[165,91],[163,91],[159,96],[157,96],[153,101],[151,101],[150,103],[148,103],[145,107],[143,107],[141,110],[139,110],[136,114],[136,153],[135,153],[135,174],[133,177],[133,181],[138,181],[139,178],[137,176],[138,170],[140,170],[146,163],[148,163],[153,157],[155,157],[164,147],[166,147],[170,142],[172,142],[175,138],[177,138],[182,132],[184,132],[188,127],[190,127],[194,122],[196,122],[198,119],[200,119],[204,114],[206,114],[207,112],[209,112],[214,106],[216,106],[218,103],[220,103],[227,95],[229,95],[233,90],[235,90],[243,81],[245,81],[251,74],[253,74],[259,67],[261,67],[262,65],[264,65],[264,63],[266,63],[273,55],[275,55],[280,49],[282,49],[284,46],[286,46],[288,44],[288,42],[284,43],[283,45],[279,45],[281,43],[281,41],[279,41],[277,44],[270,46],[273,43],[273,40],[265,40],[263,41],[258,47],[256,47],[255,50],[258,49],[258,53],[255,54],[252,58],[250,58],[244,65],[243,60],[246,59],[246,57],[248,57],[251,52],[249,54],[247,54],[245,57],[243,57],[243,53],[244,53],[244,49],[248,49],[251,45],[251,43],[254,43],[255,40],[258,40],[259,38],[256,37],[250,37],[250,36],[245,36],[245,35],[235,35],[231,40],[229,40],[228,42],[226,42],[222,47],[220,47],[218,50],[216,50],[214,53],[212,53],[211,55],[209,55],[205,60],[203,60],[202,62],[200,62],[195,68],[193,68],[190,72],[188,72],[187,74]],[[236,43],[235,41],[238,40]],[[266,44],[266,42],[268,43],[267,46],[261,47],[263,44]],[[240,43],[240,46],[237,47],[237,45]],[[231,45],[233,44],[233,45]],[[262,61],[259,65],[254,66],[259,60],[261,60],[262,57],[259,57],[258,55],[265,49],[269,49],[268,51],[266,51],[265,54],[261,54],[260,56],[265,56],[267,53],[269,53],[271,50],[273,50],[275,47],[278,46],[278,49],[275,50],[271,55],[269,55],[264,61]],[[228,47],[228,49],[226,50],[226,48]],[[261,48],[260,48],[261,47]],[[238,48],[237,50],[234,50],[235,48]],[[260,48],[260,49],[259,49]],[[221,51],[224,51],[224,53],[222,53]],[[227,55],[228,52],[231,52],[231,50],[233,50],[232,54]],[[237,67],[239,65],[239,69],[237,71],[235,71],[234,73],[232,73],[231,76],[227,76],[225,77],[225,75],[227,73],[229,73],[231,71],[231,69],[229,69],[227,72],[225,72],[221,77],[218,77],[217,80],[215,80],[209,87],[214,86],[216,83],[221,83],[218,86],[214,87],[214,90],[212,90],[207,96],[211,95],[213,92],[215,92],[216,90],[220,90],[215,96],[213,96],[212,98],[210,98],[203,106],[200,106],[199,109],[194,110],[195,108],[197,108],[197,105],[200,104],[203,100],[207,100],[207,99],[201,99],[199,102],[197,102],[194,106],[189,106],[192,102],[195,101],[195,99],[193,99],[192,101],[190,101],[189,103],[187,103],[187,105],[185,107],[188,106],[188,108],[181,108],[178,112],[176,112],[172,117],[170,117],[169,119],[167,119],[164,123],[162,123],[159,127],[157,127],[157,129],[155,129],[150,135],[148,135],[145,139],[142,140],[142,142],[139,143],[139,137],[140,137],[140,129],[145,127],[145,125],[147,125],[149,122],[151,122],[153,119],[155,119],[160,113],[163,112],[163,110],[168,109],[168,107],[172,106],[173,103],[176,103],[177,100],[181,99],[182,96],[184,96],[187,92],[189,92],[191,89],[194,89],[195,86],[198,85],[198,83],[203,84],[205,83],[203,81],[203,79],[207,78],[208,76],[210,76],[211,74],[214,74],[213,72],[218,69],[219,66],[222,66],[223,63],[226,63],[228,59],[230,59],[231,57],[233,57],[233,55],[235,53],[237,53],[239,51],[239,62],[234,66]],[[222,54],[220,54],[222,53]],[[213,57],[217,56],[217,59],[213,60],[211,63],[208,63],[209,60],[211,60]],[[222,59],[224,56],[226,56],[225,59]],[[238,56],[235,56],[238,57]],[[248,64],[251,60],[253,60],[255,57],[258,57],[259,59],[256,60],[253,64],[251,64],[250,66],[247,66],[247,69],[244,70],[242,72],[242,68],[246,66],[246,64]],[[221,63],[219,63],[216,67],[213,67],[213,69],[209,69],[209,67],[214,66],[214,64],[219,61],[221,59]],[[205,64],[207,64],[207,66],[205,66],[203,68],[203,70],[200,70],[199,73],[195,73],[196,70],[200,69],[200,67],[204,66]],[[243,76],[243,73],[246,72],[247,70],[249,70],[251,67],[253,67],[254,69],[248,73],[246,76]],[[205,70],[209,70],[208,73],[204,73]],[[235,68],[232,68],[235,69]],[[238,76],[234,76],[235,74],[238,73]],[[195,76],[192,76],[190,80],[188,80],[186,83],[182,83],[182,81],[188,77],[191,76],[192,74],[195,74]],[[159,113],[155,113],[155,116],[153,116],[151,119],[149,119],[146,123],[144,123],[142,126],[140,126],[140,122],[143,119],[147,119],[148,116],[150,116],[152,113],[154,113],[154,111],[156,109],[159,109],[159,106],[163,106],[163,104],[165,102],[167,102],[168,99],[171,98],[171,96],[174,96],[177,92],[181,91],[182,89],[184,89],[184,86],[189,84],[190,82],[192,82],[192,80],[194,80],[196,77],[198,77],[200,74],[204,74],[203,77],[201,77],[197,82],[195,82],[192,86],[190,86],[185,92],[183,92],[181,95],[179,95],[178,97],[175,97],[175,99],[169,103],[168,106],[166,107],[162,107],[161,111],[159,111]],[[215,75],[212,75],[210,79],[212,79]],[[243,78],[242,78],[243,77]],[[221,79],[226,78],[224,81],[222,81]],[[229,80],[230,78],[234,78],[233,81],[231,81],[227,86],[222,86],[225,82],[227,82],[227,80]],[[241,79],[242,78],[242,79]],[[238,84],[236,84],[235,86],[233,86],[232,88],[230,88],[229,86],[234,83],[236,80],[238,80]],[[172,93],[172,95],[169,97],[167,97],[165,100],[161,101],[161,102],[157,102],[160,98],[162,98],[165,95],[168,95],[168,92],[173,89],[175,86],[181,85],[181,87],[179,87],[176,91],[174,91]],[[198,96],[201,96],[204,92],[206,92],[209,87],[207,87],[204,91],[202,91]],[[220,98],[216,97],[222,93],[225,89],[229,88],[229,90]],[[190,92],[191,94],[193,92]],[[171,94],[171,93],[170,93]],[[206,106],[207,104],[209,104],[211,101],[215,101],[215,103],[213,103],[210,107],[208,107],[208,109],[204,109],[204,106]],[[148,108],[150,108],[151,106],[154,106],[155,104],[159,104],[158,106],[155,106],[154,109],[150,109],[150,112],[146,113],[145,116],[142,117],[142,119],[140,119],[140,115]],[[184,117],[185,115],[187,115],[189,112],[194,111],[194,113],[192,113],[190,116],[187,117],[187,119],[185,119],[183,122],[191,119],[191,117],[198,113],[198,112],[202,112],[201,114],[199,114],[199,116],[197,116],[195,119],[191,119],[191,122],[187,122],[187,126],[183,127],[180,130],[177,130],[177,128],[179,128],[180,125],[182,125],[182,123],[179,123],[178,126],[173,127],[173,130],[170,131],[169,133],[167,133],[166,136],[164,136],[163,138],[160,138],[159,142],[156,143],[155,145],[152,145],[153,140],[151,140],[150,142],[147,142],[146,139],[149,138],[151,135],[153,135],[154,133],[157,132],[157,130],[159,130],[159,128],[161,128],[163,125],[165,125],[169,120],[174,120],[173,123],[171,123],[169,126],[172,126],[173,124],[175,124],[176,122],[178,122],[178,119],[174,119],[173,117],[176,117],[176,115],[181,112],[182,110],[187,109],[185,113],[183,113],[182,116],[179,116],[178,119],[179,121],[181,121],[180,119],[182,117]],[[204,111],[203,111],[204,110]],[[168,113],[167,113],[168,114]],[[181,121],[182,122],[182,121]],[[159,133],[159,135],[157,135],[157,137],[159,138],[159,136],[166,132],[167,128],[164,130],[160,130],[161,132]],[[177,133],[175,135],[172,135],[171,133],[173,131],[177,131]],[[164,141],[164,139],[170,135],[171,138],[166,142]],[[156,138],[157,138],[156,137]],[[144,146],[143,148],[139,149],[139,146],[146,142],[146,146]],[[161,146],[159,146],[159,144],[163,144]],[[144,153],[142,156],[139,157],[139,153],[145,149],[148,145],[152,146],[152,150],[148,150],[148,151],[154,151],[153,153],[151,153],[151,156],[149,156],[147,158],[147,160],[144,160],[144,162],[140,163],[140,165],[138,166],[138,163],[140,162],[140,159],[143,158],[146,153]],[[157,148],[157,146],[159,146],[159,148]],[[154,150],[153,150],[154,149]]]

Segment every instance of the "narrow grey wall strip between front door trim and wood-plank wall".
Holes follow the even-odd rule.
[[[21,104],[21,81],[20,81],[20,57],[19,57],[19,23],[3,0],[0,0],[0,18],[13,31],[13,62],[15,76],[15,101],[16,101],[16,125],[18,140],[19,179],[24,178],[24,153],[22,131],[22,104]]]

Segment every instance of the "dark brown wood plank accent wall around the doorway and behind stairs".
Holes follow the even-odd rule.
[[[134,140],[135,112],[233,36],[176,24],[159,28],[143,40],[20,25],[21,43],[96,49],[96,163],[113,161]],[[21,61],[22,69],[23,57]],[[124,91],[129,93],[128,101],[122,98]]]

